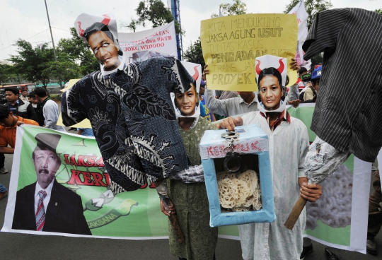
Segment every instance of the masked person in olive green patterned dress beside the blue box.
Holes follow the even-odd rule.
[[[167,179],[169,196],[175,210],[170,208],[169,213],[163,203],[161,203],[161,210],[168,216],[176,212],[180,228],[185,236],[185,242],[182,244],[178,242],[174,228],[172,226],[168,228],[171,254],[178,256],[179,259],[214,259],[218,230],[209,226],[208,198],[202,160],[199,155],[199,143],[204,131],[215,130],[216,126],[201,116],[192,117],[197,114],[199,105],[195,85],[196,83],[193,83],[190,90],[185,93],[176,93],[174,96],[174,105],[179,110],[180,136],[183,138],[191,167]],[[204,206],[200,207],[201,205]],[[195,208],[199,209],[195,211]],[[200,240],[199,237],[203,239]]]

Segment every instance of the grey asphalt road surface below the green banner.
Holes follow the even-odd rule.
[[[73,131],[71,131],[73,133]],[[6,155],[6,168],[11,170],[13,155]],[[0,175],[0,183],[9,186],[11,173]],[[0,226],[4,223],[6,199],[0,201]],[[342,260],[382,259],[382,232],[376,237],[379,256],[346,252],[337,254]],[[324,246],[313,242],[313,253],[306,260],[325,259]],[[0,232],[0,259],[156,259],[175,260],[168,251],[168,240],[111,240],[82,237],[25,235]],[[219,239],[216,259],[241,259],[240,242]]]

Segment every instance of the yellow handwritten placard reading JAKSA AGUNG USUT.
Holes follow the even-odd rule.
[[[209,89],[257,91],[255,59],[266,54],[287,58],[296,55],[295,15],[245,14],[202,20],[200,41],[209,66]],[[288,73],[289,84],[297,75]]]

